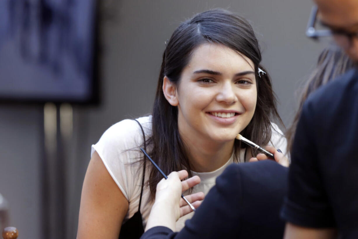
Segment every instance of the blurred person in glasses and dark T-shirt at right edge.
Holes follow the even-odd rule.
[[[284,238],[358,238],[358,1],[315,3],[322,25],[355,66],[302,107],[281,211]]]

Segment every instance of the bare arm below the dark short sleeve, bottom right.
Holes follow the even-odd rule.
[[[284,239],[333,239],[337,238],[335,228],[306,228],[286,223]]]

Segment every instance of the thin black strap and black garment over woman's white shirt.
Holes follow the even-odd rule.
[[[140,129],[142,131],[143,148],[144,148],[144,150],[146,150],[145,134],[144,134],[143,127],[139,123],[138,120],[135,119],[135,121],[139,124]],[[142,203],[142,195],[143,195],[143,187],[144,187],[144,176],[145,176],[145,163],[143,163],[142,186],[141,186],[141,191],[140,191],[138,211],[130,219],[128,219],[124,224],[122,224],[121,231],[119,234],[119,239],[139,239],[140,236],[144,233],[143,218],[142,218],[142,214],[140,212],[140,205]]]

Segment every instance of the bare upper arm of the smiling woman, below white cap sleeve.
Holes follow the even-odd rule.
[[[93,153],[82,186],[77,239],[117,239],[127,210],[127,199]]]

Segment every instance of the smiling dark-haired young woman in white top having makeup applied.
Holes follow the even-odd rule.
[[[286,152],[286,140],[271,122],[281,119],[268,74],[258,73],[260,62],[250,24],[234,13],[206,11],[176,28],[163,53],[153,113],[137,119],[145,141],[134,120],[122,120],[92,145],[77,237],[118,238],[125,228],[129,234],[142,230],[126,224],[146,224],[163,176],[140,147],[167,175],[181,169],[198,175],[201,182],[191,192],[204,194],[229,164],[256,155],[235,140],[238,133]],[[202,199],[197,193],[190,200]],[[191,216],[180,218],[176,229]]]

